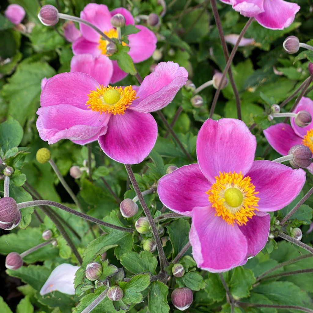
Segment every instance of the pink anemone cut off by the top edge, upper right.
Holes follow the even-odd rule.
[[[295,19],[300,10],[298,4],[283,0],[221,0],[231,4],[235,11],[270,29],[284,29]]]

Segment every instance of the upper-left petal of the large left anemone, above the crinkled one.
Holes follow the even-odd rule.
[[[51,77],[40,95],[41,106],[70,104],[82,110],[88,110],[86,102],[90,90],[99,87],[99,83],[84,73],[61,73]]]

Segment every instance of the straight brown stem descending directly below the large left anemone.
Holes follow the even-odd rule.
[[[139,202],[141,204],[143,212],[145,213],[146,217],[148,218],[149,224],[151,226],[152,234],[153,234],[154,240],[156,241],[156,248],[157,248],[157,251],[159,254],[161,272],[163,272],[163,269],[165,266],[167,266],[168,262],[167,262],[165,253],[164,253],[163,248],[162,248],[162,242],[161,242],[160,236],[157,232],[156,224],[154,223],[152,215],[149,211],[149,208],[147,207],[145,199],[142,196],[142,193],[141,193],[140,188],[138,186],[138,183],[136,181],[134,172],[131,169],[131,166],[129,164],[124,164],[124,165],[125,165],[127,174],[129,176],[129,179],[130,179],[130,181],[131,181],[131,183],[135,189],[136,195],[139,199]]]

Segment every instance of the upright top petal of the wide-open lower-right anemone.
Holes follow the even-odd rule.
[[[219,172],[249,171],[254,160],[255,137],[243,121],[223,118],[204,122],[197,138],[201,171],[210,182]]]

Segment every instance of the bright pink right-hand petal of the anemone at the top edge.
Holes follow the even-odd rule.
[[[298,4],[283,0],[264,0],[264,13],[255,16],[259,24],[270,29],[284,29],[295,19]]]

